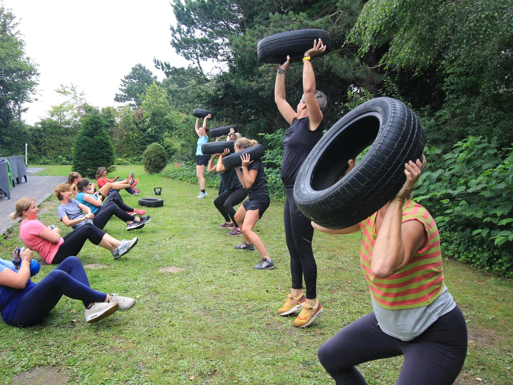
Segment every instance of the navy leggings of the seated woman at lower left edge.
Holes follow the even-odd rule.
[[[107,294],[89,287],[80,259],[68,257],[19,300],[9,324],[32,326],[41,323],[63,295],[81,300],[84,306],[107,298]]]

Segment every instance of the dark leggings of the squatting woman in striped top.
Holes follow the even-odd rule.
[[[372,312],[331,337],[317,355],[337,385],[365,385],[355,365],[400,355],[404,363],[396,385],[450,385],[466,353],[467,326],[457,306],[411,341],[385,334]]]

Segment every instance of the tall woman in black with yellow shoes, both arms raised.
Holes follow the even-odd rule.
[[[298,103],[297,111],[294,111],[285,99],[285,72],[290,64],[289,56],[285,63],[278,66],[274,83],[274,102],[283,118],[290,124],[283,139],[281,178],[286,192],[283,221],[290,254],[292,290],[287,295],[285,304],[278,310],[278,314],[286,316],[301,309],[301,313],[292,323],[295,328],[305,328],[323,312],[315,290],[317,264],[312,251],[313,227],[295,205],[293,190],[301,165],[313,146],[321,139],[324,130],[322,110],[326,107],[326,95],[315,90],[315,75],[310,59],[325,50],[326,46],[319,39],[319,41],[314,40],[313,48],[305,52],[303,57],[303,96]],[[303,294],[303,276],[305,277],[306,298]]]

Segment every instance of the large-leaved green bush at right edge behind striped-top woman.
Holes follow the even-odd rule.
[[[416,194],[435,218],[445,254],[513,277],[513,149],[497,151],[496,138],[469,137],[424,171]]]

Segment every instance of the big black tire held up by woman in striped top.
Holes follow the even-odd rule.
[[[313,147],[294,185],[302,213],[327,228],[355,225],[390,201],[406,181],[404,164],[420,159],[424,129],[404,103],[372,99],[335,123]],[[370,145],[344,176],[347,162]]]

